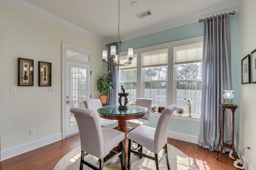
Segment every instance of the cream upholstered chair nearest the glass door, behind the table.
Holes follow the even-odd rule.
[[[114,129],[118,126],[118,121],[110,120],[110,119],[104,119],[104,118],[100,117],[100,115],[98,114],[97,109],[102,107],[100,99],[84,100],[84,105],[87,109],[92,109],[94,111],[94,113],[96,113],[97,118],[100,121],[100,126],[101,127],[108,127],[108,128]]]

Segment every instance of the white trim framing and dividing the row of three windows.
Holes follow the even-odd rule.
[[[141,53],[143,51],[148,51],[148,50],[153,50],[153,49],[158,49],[158,48],[164,48],[168,47],[168,64],[167,64],[167,72],[168,73],[173,73],[174,72],[174,45],[178,44],[183,44],[183,43],[189,43],[193,41],[200,41],[203,40],[203,36],[200,37],[194,37],[190,39],[184,39],[180,41],[174,41],[170,43],[165,43],[165,44],[160,44],[160,45],[154,45],[150,47],[144,47],[140,49],[134,49],[134,53],[137,53],[137,98],[142,98],[144,94],[144,89],[142,90],[142,57]],[[128,54],[128,51],[121,52],[120,55],[125,55]],[[166,106],[169,106],[171,104],[174,104],[174,74],[167,74],[167,86],[166,86]],[[175,96],[176,97],[176,96]],[[159,114],[159,113],[158,113]],[[160,116],[160,114],[159,114]],[[186,115],[172,115],[172,118],[174,119],[182,119],[182,120],[188,120],[188,121],[200,121],[200,117],[194,116],[194,117],[187,117]]]

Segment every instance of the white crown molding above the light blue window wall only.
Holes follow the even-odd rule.
[[[168,21],[168,22],[165,22],[165,23],[161,23],[161,24],[158,24],[158,25],[147,27],[145,29],[140,29],[140,30],[137,30],[137,31],[134,31],[134,32],[130,32],[130,33],[120,35],[120,40],[125,41],[125,40],[128,40],[128,39],[133,39],[133,38],[141,37],[141,36],[148,35],[148,34],[151,34],[151,33],[164,31],[166,29],[171,29],[171,28],[178,27],[178,26],[181,26],[181,25],[186,25],[186,24],[189,24],[189,23],[198,22],[198,20],[200,18],[206,18],[206,17],[212,16],[212,15],[217,15],[217,14],[221,14],[221,13],[224,13],[224,12],[231,12],[233,10],[235,10],[236,12],[239,12],[241,6],[242,6],[242,1],[239,1],[239,2],[236,1],[236,4],[234,4],[233,6],[229,6],[229,7],[226,7],[226,8],[219,8],[218,10],[216,10],[216,8],[208,9],[207,11],[198,12],[198,14],[194,14],[194,15],[191,15],[191,16],[186,16],[186,17],[183,17],[183,18],[178,18],[176,20],[171,20],[171,21]],[[118,41],[118,36],[110,37],[108,39],[105,39],[104,41],[106,43],[110,43],[110,42],[113,42],[113,41]]]

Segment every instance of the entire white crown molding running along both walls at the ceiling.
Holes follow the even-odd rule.
[[[118,41],[118,36],[114,36],[114,37],[110,37],[107,39],[103,39],[102,37],[95,35],[93,33],[90,33],[89,31],[82,29],[66,20],[63,20],[62,18],[59,18],[58,16],[55,16],[49,12],[46,12],[45,10],[42,10],[32,4],[29,4],[27,2],[25,2],[24,0],[1,0],[1,2],[4,2],[10,6],[13,6],[15,8],[18,8],[20,10],[23,10],[25,12],[28,12],[34,16],[38,16],[44,20],[48,20],[52,23],[55,23],[57,25],[60,25],[66,29],[69,29],[71,31],[74,31],[76,33],[79,33],[81,35],[84,35],[85,37],[88,37],[94,41],[98,41],[101,43],[110,43],[113,41]],[[145,29],[140,29],[137,31],[133,31],[130,33],[126,33],[123,35],[120,35],[120,39],[122,41],[128,40],[128,39],[133,39],[136,37],[141,37],[144,35],[148,35],[148,34],[152,34],[152,33],[156,33],[159,31],[164,31],[166,29],[171,29],[174,27],[178,27],[181,25],[186,25],[189,23],[194,23],[197,22],[200,18],[206,18],[212,15],[216,15],[216,14],[220,14],[220,13],[224,13],[224,12],[231,12],[232,10],[235,10],[236,12],[240,11],[240,8],[242,6],[242,1],[235,1],[234,4],[232,6],[228,6],[228,7],[222,7],[222,8],[218,8],[218,10],[216,10],[216,8],[212,8],[212,9],[208,9],[206,11],[201,11],[198,12],[197,14],[191,15],[191,16],[186,16],[183,18],[178,18],[176,20],[171,20],[165,23],[161,23],[158,25],[153,25],[151,27],[147,27]]]

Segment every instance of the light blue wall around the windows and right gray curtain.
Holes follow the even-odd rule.
[[[144,35],[134,39],[122,41],[120,51],[126,51],[128,48],[140,49],[158,44],[170,43],[183,39],[199,37],[203,35],[203,23],[190,23],[172,29]],[[231,64],[232,64],[232,90],[234,90],[235,98],[234,104],[239,104],[239,14],[230,16],[230,34],[231,34]],[[238,110],[236,111],[235,131],[238,138],[239,116]],[[158,117],[152,116],[151,126],[156,127]],[[171,119],[170,131],[186,133],[190,135],[199,136],[200,122],[186,121],[180,119]]]

